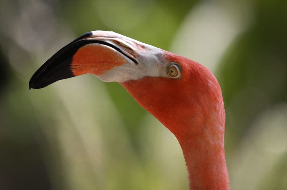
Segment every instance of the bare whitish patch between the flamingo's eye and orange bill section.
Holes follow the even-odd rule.
[[[137,80],[147,76],[168,77],[166,71],[169,62],[164,58],[163,52],[159,48],[144,44],[115,32],[94,31],[93,36],[95,36],[95,38],[90,38],[91,40],[101,40],[112,44],[137,62],[136,64],[123,55],[123,58],[127,61],[125,64],[115,66],[106,73],[97,75],[102,81],[123,83],[125,81]],[[118,53],[121,54],[121,52]]]

